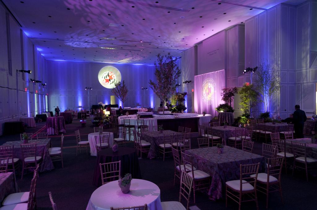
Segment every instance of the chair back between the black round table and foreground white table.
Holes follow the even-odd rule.
[[[99,166],[102,185],[120,178],[121,160],[111,163],[100,163]]]

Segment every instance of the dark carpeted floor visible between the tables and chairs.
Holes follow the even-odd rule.
[[[36,123],[36,128],[28,128],[27,132],[36,132],[45,123]],[[83,139],[93,132],[92,123],[87,119],[87,127],[81,127],[78,120],[66,125],[67,134],[64,147],[75,146],[74,130],[80,129]],[[109,130],[110,131],[110,130]],[[52,145],[60,144],[60,137],[50,136]],[[0,145],[6,141],[19,140],[19,135],[0,136]],[[196,138],[192,138],[192,148],[197,148]],[[133,147],[131,143],[128,145]],[[256,143],[254,153],[261,154],[262,144]],[[37,209],[51,209],[48,192],[51,191],[59,210],[85,210],[90,195],[97,188],[92,184],[96,157],[81,153],[76,156],[76,148],[63,149],[64,168],[60,162],[54,162],[55,169],[40,173],[37,182]],[[178,201],[179,181],[173,185],[174,163],[173,158],[163,159],[139,159],[142,178],[157,184],[161,190],[161,201]],[[17,183],[21,191],[28,191],[32,174],[27,174],[23,180],[18,176]],[[304,173],[291,171],[282,174],[282,188],[284,205],[278,192],[270,194],[268,209],[317,209],[317,178],[309,177],[306,182]],[[225,201],[210,201],[204,193],[196,194],[196,206],[201,210],[238,209],[238,205],[232,201],[225,207]],[[265,196],[258,195],[260,209],[265,209]],[[192,201],[193,202],[193,201]],[[191,204],[193,206],[194,204]],[[242,209],[256,209],[254,203],[244,203]]]

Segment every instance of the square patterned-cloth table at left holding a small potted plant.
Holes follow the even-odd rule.
[[[23,141],[7,141],[2,146],[13,145],[13,157],[22,160],[21,144]],[[54,169],[51,157],[49,156],[49,147],[51,139],[33,139],[29,140],[29,144],[36,144],[36,156],[42,156],[43,160],[40,166],[40,172]]]

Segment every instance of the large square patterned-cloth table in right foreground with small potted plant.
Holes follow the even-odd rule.
[[[211,185],[208,195],[214,201],[223,197],[227,181],[240,178],[240,164],[260,163],[259,173],[266,169],[263,156],[228,146],[223,147],[223,154],[217,153],[217,147],[190,149],[185,153],[193,157],[193,165],[198,170],[210,175]]]

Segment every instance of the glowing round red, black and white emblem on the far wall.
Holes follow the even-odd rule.
[[[102,67],[98,73],[98,80],[103,87],[112,89],[114,83],[121,81],[120,71],[113,66]]]

